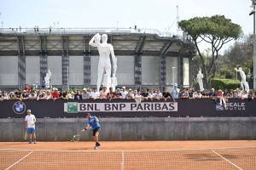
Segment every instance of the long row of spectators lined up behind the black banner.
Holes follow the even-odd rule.
[[[28,87],[26,84],[26,87],[24,90],[20,90],[18,88],[15,92],[10,92],[9,94],[6,91],[0,91],[0,101],[8,100],[8,99],[108,99],[109,101],[112,99],[141,99],[143,100],[164,100],[172,99],[174,102],[176,99],[218,99],[220,103],[224,103],[228,101],[228,99],[237,98],[237,99],[248,99],[252,100],[256,98],[256,89],[250,90],[248,93],[247,91],[243,91],[240,93],[240,89],[236,88],[236,90],[230,89],[224,89],[222,91],[221,89],[218,89],[215,91],[214,88],[211,90],[205,89],[203,92],[200,91],[194,91],[192,88],[189,89],[183,89],[180,91],[179,88],[177,88],[177,83],[174,84],[174,88],[172,88],[171,92],[168,92],[167,89],[165,89],[163,92],[160,92],[160,89],[157,89],[154,91],[153,89],[147,90],[146,88],[143,89],[143,91],[137,91],[132,90],[131,88],[126,91],[125,87],[122,89],[117,88],[116,91],[113,91],[113,88],[109,88],[107,93],[107,88],[103,87],[100,92],[96,91],[96,88],[90,89],[87,91],[86,88],[83,89],[81,92],[78,91],[58,91],[57,88],[54,88],[53,91],[47,90],[47,91],[34,91],[31,90],[31,88]]]

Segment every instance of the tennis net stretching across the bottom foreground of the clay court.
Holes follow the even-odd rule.
[[[0,169],[256,169],[256,147],[199,150],[0,150]]]

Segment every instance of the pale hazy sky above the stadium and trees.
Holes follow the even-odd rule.
[[[3,28],[57,26],[66,28],[123,27],[150,28],[177,33],[179,20],[225,15],[241,26],[245,35],[253,33],[251,0],[1,0]],[[234,41],[224,45],[229,48]],[[200,49],[207,48],[201,44]]]

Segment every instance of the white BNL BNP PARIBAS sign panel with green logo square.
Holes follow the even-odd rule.
[[[64,103],[64,112],[122,112],[122,111],[177,111],[177,102],[148,102],[137,105],[136,103]]]

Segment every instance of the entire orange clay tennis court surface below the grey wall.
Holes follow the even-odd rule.
[[[256,140],[2,142],[0,169],[255,169]]]

